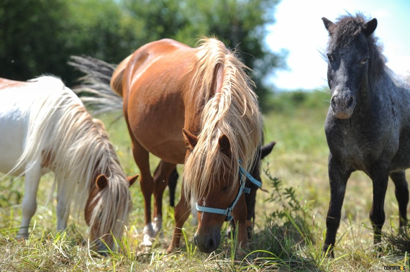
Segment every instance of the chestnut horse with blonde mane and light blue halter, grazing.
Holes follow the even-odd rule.
[[[239,224],[238,245],[246,244],[241,173],[249,175],[262,134],[257,96],[246,70],[235,54],[214,38],[201,40],[197,48],[171,39],[150,42],[115,69],[111,88],[122,97],[140,169],[146,244],[161,230],[162,194],[170,173],[181,163],[185,163],[181,199],[175,207],[176,224],[168,252],[179,246],[191,199],[197,202],[199,222],[194,240],[201,252],[210,253],[219,246],[221,226],[232,218],[231,210]],[[89,71],[87,78],[92,81],[98,74]],[[149,153],[161,158],[154,178]]]

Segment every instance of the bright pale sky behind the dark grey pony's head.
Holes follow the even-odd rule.
[[[281,0],[266,42],[273,52],[288,51],[287,69],[270,78],[278,90],[312,90],[327,86],[327,62],[322,59],[328,34],[322,17],[361,12],[377,18],[374,35],[382,44],[388,65],[410,70],[410,0]]]

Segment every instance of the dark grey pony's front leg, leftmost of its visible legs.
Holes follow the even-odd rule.
[[[332,258],[334,257],[333,248],[340,224],[347,179],[351,173],[352,170],[343,169],[342,164],[335,160],[332,154],[329,155],[330,202],[326,217],[326,238],[324,240],[323,252]]]

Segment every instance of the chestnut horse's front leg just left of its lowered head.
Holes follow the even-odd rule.
[[[179,241],[182,237],[182,226],[185,221],[187,221],[189,214],[190,214],[190,209],[188,207],[188,201],[190,201],[190,197],[188,196],[186,198],[185,192],[181,190],[181,199],[179,200],[178,204],[175,206],[175,228],[174,228],[174,234],[172,235],[172,241],[170,246],[168,247],[168,253],[172,253],[179,247]]]

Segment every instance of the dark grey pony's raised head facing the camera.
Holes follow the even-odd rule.
[[[376,18],[344,16],[339,21],[322,18],[329,31],[327,82],[332,92],[331,107],[336,118],[353,114],[357,94],[368,81],[370,48],[368,38],[377,27]]]

